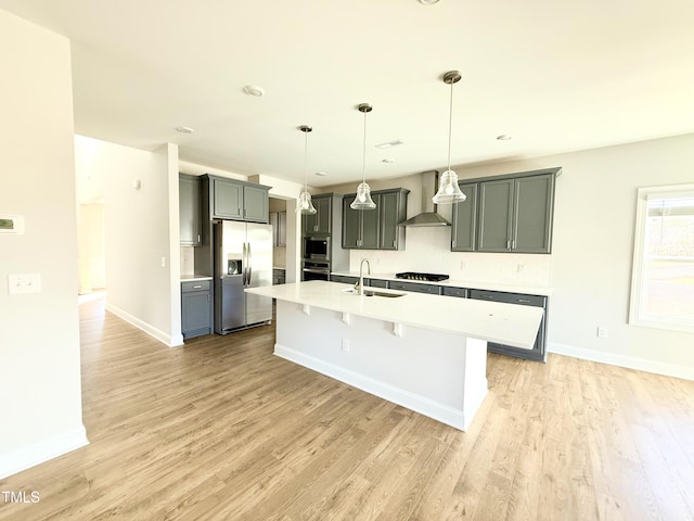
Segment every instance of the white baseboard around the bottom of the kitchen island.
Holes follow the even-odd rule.
[[[285,347],[280,344],[274,344],[274,354],[281,358],[298,364],[299,366],[312,369],[326,377],[334,378],[340,382],[345,382],[354,387],[365,391],[367,393],[378,396],[394,404],[401,405],[408,409],[412,409],[415,412],[420,412],[429,418],[446,423],[447,425],[454,427],[464,431],[467,428],[465,422],[465,414],[462,410],[454,409],[444,404],[439,404],[424,396],[420,396],[414,393],[410,393],[399,387],[395,387],[387,383],[374,380],[363,374],[359,374],[354,371],[349,371],[342,367],[335,366],[319,358],[299,353],[291,347]],[[483,396],[484,398],[484,396]],[[481,405],[481,399],[477,407]],[[477,409],[472,410],[470,419],[474,418]]]

